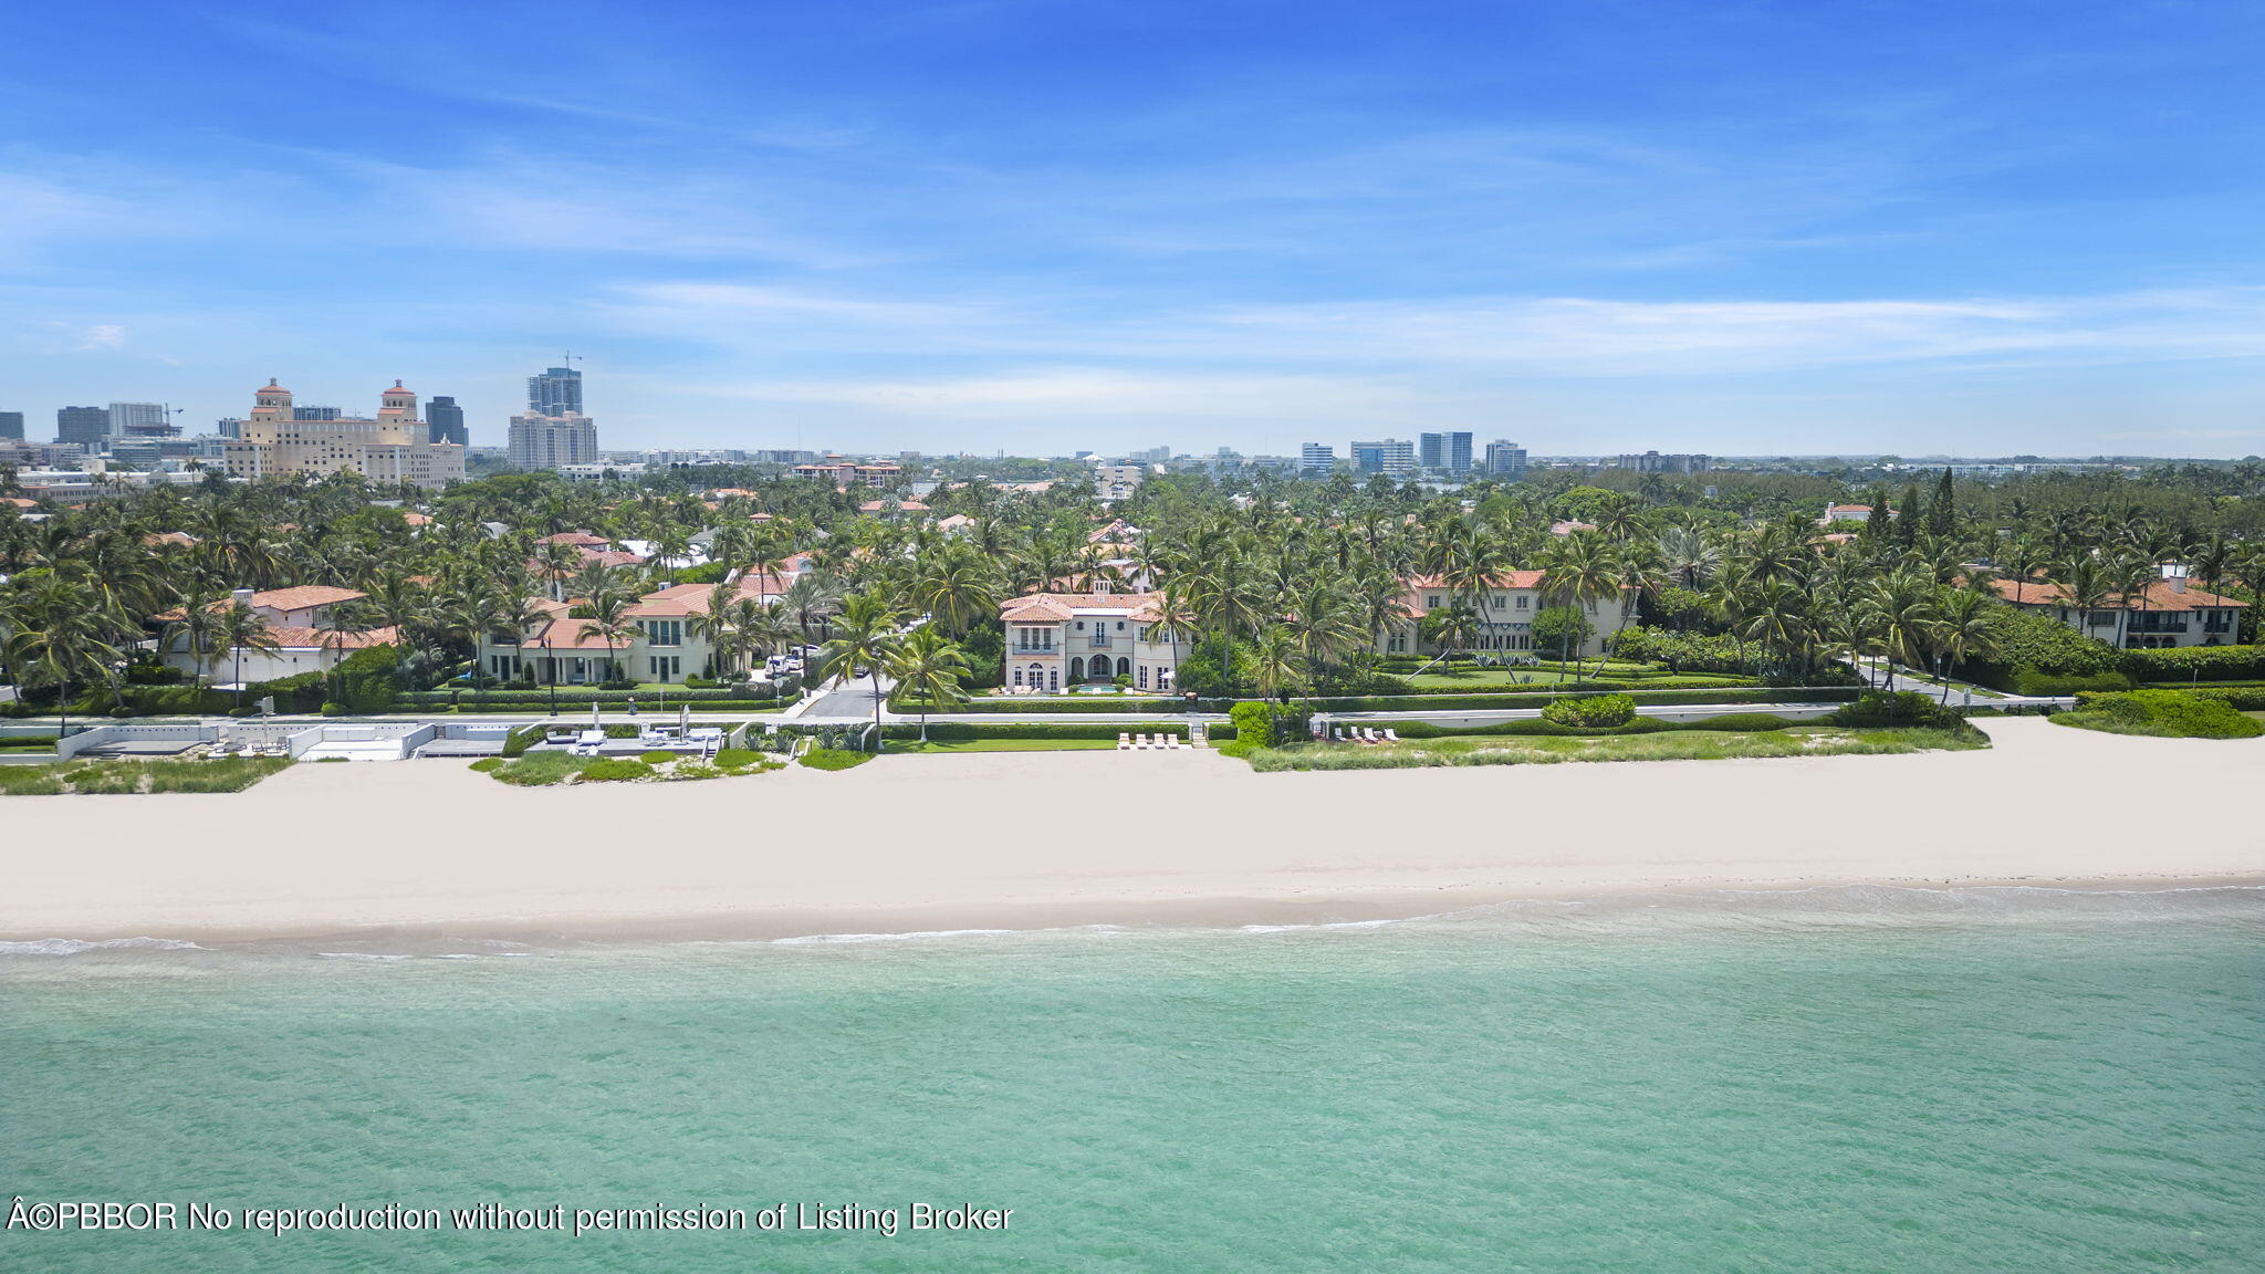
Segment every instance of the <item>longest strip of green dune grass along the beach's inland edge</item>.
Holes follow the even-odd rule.
[[[1520,766],[1563,762],[1715,762],[1735,757],[1835,757],[1986,748],[1977,732],[1846,730],[1796,725],[1787,730],[1674,730],[1665,734],[1447,734],[1402,744],[1293,744],[1253,753],[1250,768],[1370,771],[1431,766]]]

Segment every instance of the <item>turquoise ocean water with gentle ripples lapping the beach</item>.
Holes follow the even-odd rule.
[[[2265,895],[16,945],[0,1195],[750,1224],[0,1231],[0,1269],[25,1272],[2260,1269]],[[1015,1213],[752,1229],[779,1204],[908,1224],[915,1201]]]

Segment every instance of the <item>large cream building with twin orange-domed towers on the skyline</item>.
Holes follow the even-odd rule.
[[[272,379],[251,404],[238,438],[222,444],[233,478],[353,472],[374,483],[439,487],[464,476],[464,449],[426,440],[417,394],[401,381],[381,394],[376,417],[299,419],[290,390]]]

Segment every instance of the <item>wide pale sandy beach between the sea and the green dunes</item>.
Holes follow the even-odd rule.
[[[458,762],[0,802],[0,941],[655,936],[1416,916],[1538,895],[2265,880],[2265,741],[1986,723],[1984,753],[1255,775],[888,757],[514,789]]]

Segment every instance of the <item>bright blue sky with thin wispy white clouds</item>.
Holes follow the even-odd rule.
[[[2265,453],[2265,9],[36,5],[0,408]]]

